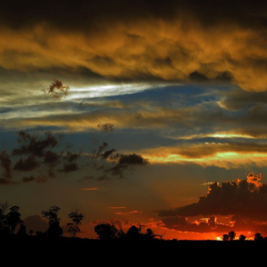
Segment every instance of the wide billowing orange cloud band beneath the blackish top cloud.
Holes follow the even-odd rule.
[[[195,74],[206,80],[226,74],[246,91],[266,91],[265,28],[225,19],[207,27],[192,10],[178,10],[168,18],[103,19],[94,22],[97,31],[93,22],[75,32],[37,21],[27,28],[2,26],[0,65],[19,71],[85,68],[115,80],[186,82]]]

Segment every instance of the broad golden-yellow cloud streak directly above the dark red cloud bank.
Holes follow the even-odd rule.
[[[182,144],[146,149],[141,153],[150,163],[195,163],[226,169],[267,163],[265,145],[257,143]]]

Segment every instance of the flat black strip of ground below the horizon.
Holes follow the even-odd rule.
[[[110,241],[73,238],[8,238],[0,255],[11,265],[52,266],[242,266],[267,261],[266,241]],[[93,263],[94,262],[94,263]],[[32,263],[32,264],[31,264]]]

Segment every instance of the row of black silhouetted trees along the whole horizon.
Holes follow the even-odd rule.
[[[63,228],[60,225],[61,219],[58,217],[60,207],[57,205],[51,206],[48,211],[42,211],[41,215],[48,221],[48,228],[45,232],[35,232],[36,236],[45,237],[60,237],[63,236]],[[67,232],[72,233],[75,238],[77,233],[80,232],[80,225],[84,219],[84,214],[78,209],[75,209],[71,213],[68,213],[69,223],[66,223]],[[163,239],[163,234],[155,234],[150,228],[146,232],[142,232],[142,224],[131,226],[126,232],[119,227],[119,230],[110,223],[99,223],[95,225],[94,232],[97,234],[99,240],[153,240],[156,237]],[[33,235],[33,230],[27,232],[25,222],[21,219],[20,208],[16,205],[9,206],[7,202],[0,203],[0,236],[9,235]],[[231,231],[223,234],[223,241],[236,240],[236,232]],[[246,236],[241,234],[239,241],[245,241]],[[263,237],[262,233],[256,232],[254,234],[254,241],[266,241],[267,237]]]

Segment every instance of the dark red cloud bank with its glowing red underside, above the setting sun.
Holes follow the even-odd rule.
[[[267,185],[261,183],[262,174],[249,173],[246,179],[222,184],[212,183],[208,193],[191,203],[172,210],[158,211],[163,223],[170,229],[189,232],[266,232]],[[203,221],[189,218],[204,216]],[[228,217],[228,223],[219,223],[217,217]]]

